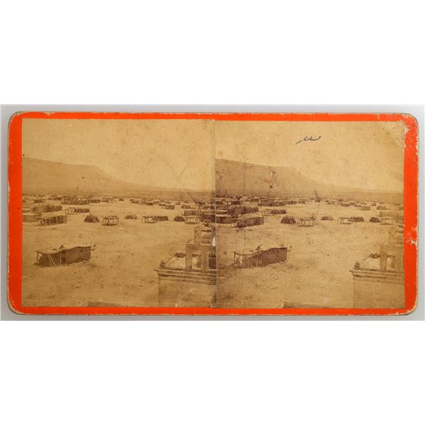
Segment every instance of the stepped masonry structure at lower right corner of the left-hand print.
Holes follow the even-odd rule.
[[[160,307],[213,307],[216,294],[215,226],[195,227],[186,252],[162,261],[159,278]]]

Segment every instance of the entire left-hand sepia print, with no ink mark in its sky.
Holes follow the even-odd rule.
[[[214,121],[22,120],[22,305],[214,307]]]

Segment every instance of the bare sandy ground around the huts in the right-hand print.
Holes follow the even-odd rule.
[[[279,207],[280,208],[280,207]],[[379,215],[376,207],[307,203],[285,205],[287,215],[317,217],[315,227],[280,224],[283,215],[266,216],[264,225],[217,229],[217,305],[249,307],[353,307],[353,277],[350,269],[387,242],[388,226],[369,222]],[[260,210],[265,208],[260,207]],[[333,221],[320,220],[331,215]],[[362,216],[365,222],[339,225],[340,216]],[[283,263],[257,268],[232,266],[233,251],[257,246],[290,247]]]

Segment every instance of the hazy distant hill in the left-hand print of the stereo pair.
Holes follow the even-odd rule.
[[[128,181],[120,181],[99,169],[97,166],[62,164],[23,157],[22,159],[23,193],[60,193],[60,194],[104,194],[121,196],[140,196],[152,193],[152,196],[166,193],[196,193],[186,189],[159,188]]]

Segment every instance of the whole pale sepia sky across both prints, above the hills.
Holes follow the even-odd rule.
[[[399,122],[23,120],[26,157],[96,165],[115,179],[196,190],[214,190],[217,157],[291,166],[339,186],[402,191],[403,145]]]

